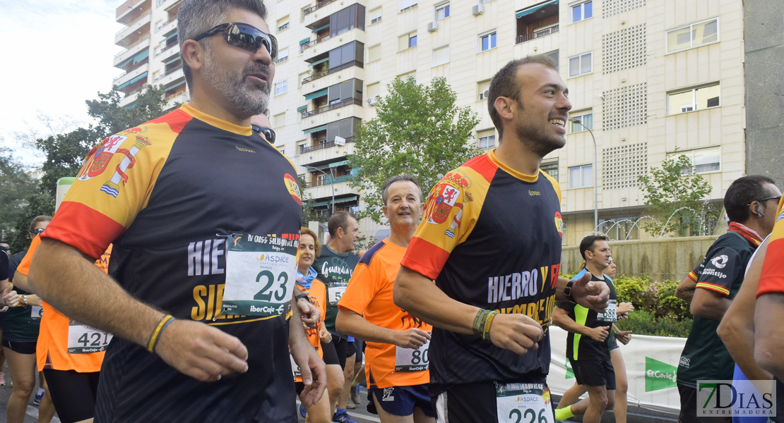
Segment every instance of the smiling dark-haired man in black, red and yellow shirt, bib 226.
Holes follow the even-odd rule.
[[[539,170],[565,145],[572,109],[555,66],[529,56],[495,74],[488,109],[499,146],[445,172],[397,274],[395,304],[434,326],[429,387],[439,422],[508,421],[528,410],[553,421],[555,300],[607,306],[607,285],[558,278],[561,190]]]

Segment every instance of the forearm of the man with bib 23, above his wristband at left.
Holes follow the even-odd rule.
[[[163,314],[130,296],[93,259],[52,239],[42,240],[27,282],[68,317],[141,346]]]

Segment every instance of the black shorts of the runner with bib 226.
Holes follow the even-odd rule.
[[[545,378],[526,382],[542,383],[546,386]],[[448,421],[449,423],[476,423],[477,421],[495,423],[498,421],[495,382],[452,385],[438,396],[433,396],[436,391],[432,389],[432,384],[430,387],[430,401],[436,411],[437,421]],[[552,409],[550,412],[554,413],[553,401],[550,401],[550,407]]]

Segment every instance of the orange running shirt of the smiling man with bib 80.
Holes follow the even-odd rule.
[[[408,314],[392,300],[394,279],[397,277],[397,271],[400,270],[400,261],[403,260],[404,254],[404,247],[386,241],[379,242],[368,249],[354,268],[354,274],[351,276],[346,292],[338,302],[338,307],[357,314],[365,314],[365,320],[382,328],[396,331],[419,328],[423,331],[431,331],[433,327],[430,324]],[[395,371],[396,356],[405,353],[405,351],[398,353],[398,350],[407,349],[399,349],[392,344],[381,342],[366,342],[366,344],[365,375],[369,386],[389,388],[430,382],[428,370]],[[413,351],[416,350],[408,350],[408,353]],[[413,360],[409,360],[408,364],[421,364],[418,367],[427,369],[429,361],[427,356],[427,353],[421,351],[414,353]],[[400,367],[401,363],[397,364]]]

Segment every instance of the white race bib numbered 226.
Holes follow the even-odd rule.
[[[495,384],[499,423],[555,423],[550,401],[542,383]]]

